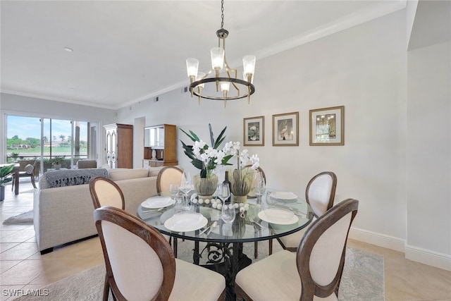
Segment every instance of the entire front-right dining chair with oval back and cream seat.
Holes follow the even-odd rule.
[[[311,224],[296,253],[281,250],[239,271],[237,300],[338,301],[347,235],[358,207],[356,199],[345,199]]]

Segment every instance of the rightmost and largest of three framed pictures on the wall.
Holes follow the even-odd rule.
[[[345,106],[310,110],[310,145],[345,145]]]

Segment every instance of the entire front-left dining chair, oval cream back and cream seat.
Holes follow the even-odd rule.
[[[127,211],[94,210],[106,275],[116,300],[224,300],[226,279],[175,259],[163,235]]]

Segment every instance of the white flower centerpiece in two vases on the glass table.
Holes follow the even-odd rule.
[[[226,127],[227,128],[227,127]],[[222,149],[219,149],[223,141],[226,139],[224,133],[226,128],[223,128],[218,138],[214,139],[211,124],[209,124],[211,147],[206,145],[206,142],[199,139],[199,137],[190,130],[190,133],[185,130],[180,130],[185,133],[194,145],[186,145],[182,141],[185,154],[191,159],[194,167],[200,169],[199,175],[194,176],[194,189],[201,197],[213,195],[218,183],[218,177],[214,173],[218,165],[233,165],[228,163],[233,156],[237,156],[237,168],[230,174],[230,190],[235,196],[246,196],[252,189],[252,177],[254,171],[247,168],[248,162],[252,162],[250,169],[259,167],[259,157],[257,154],[249,156],[247,149],[243,149],[240,153],[240,142],[227,142]],[[236,199],[236,198],[235,198]],[[243,202],[242,199],[238,202]]]

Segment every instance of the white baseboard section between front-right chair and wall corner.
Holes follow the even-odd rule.
[[[405,241],[400,238],[395,238],[389,235],[374,233],[371,231],[362,230],[351,227],[349,238],[371,243],[371,245],[378,245],[379,247],[386,247],[391,250],[404,252]]]

